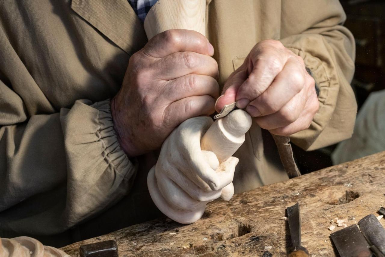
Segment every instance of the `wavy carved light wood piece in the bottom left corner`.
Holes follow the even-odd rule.
[[[0,257],[70,257],[31,237],[0,238]]]

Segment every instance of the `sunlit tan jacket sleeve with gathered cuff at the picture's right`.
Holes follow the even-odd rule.
[[[352,136],[357,103],[350,86],[355,42],[343,27],[346,15],[338,0],[282,1],[280,41],[301,56],[313,73],[320,108],[310,128],[291,136],[305,150],[335,144]]]

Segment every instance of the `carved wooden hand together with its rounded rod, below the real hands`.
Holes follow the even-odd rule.
[[[232,154],[244,142],[244,134],[250,127],[251,117],[243,110],[234,110],[214,123],[210,117],[195,117],[179,125],[164,141],[158,162],[147,176],[151,198],[159,210],[172,220],[188,224],[201,218],[209,201],[219,196],[230,200],[238,164]],[[209,167],[201,162],[206,162]],[[189,167],[188,163],[199,166],[197,169],[203,175],[189,177],[188,174],[197,169]],[[197,192],[202,190],[197,186],[201,176],[209,176],[215,171],[223,172],[218,177],[220,180],[214,182],[219,188],[212,192]],[[196,195],[200,195],[200,200],[194,197]],[[208,199],[202,199],[203,196]]]

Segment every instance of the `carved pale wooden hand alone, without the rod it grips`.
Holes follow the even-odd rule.
[[[151,198],[159,210],[180,223],[201,218],[206,203],[219,196],[230,200],[238,158],[219,164],[215,154],[201,150],[201,138],[213,123],[210,117],[190,118],[162,145],[156,166],[148,175]]]

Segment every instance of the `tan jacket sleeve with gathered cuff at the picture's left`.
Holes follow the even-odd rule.
[[[47,98],[1,28],[0,41],[0,234],[59,233],[127,194],[136,164],[117,141],[110,100],[41,111]],[[26,101],[15,88],[35,93]]]

